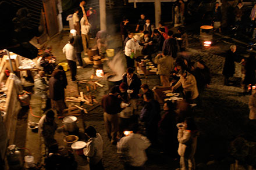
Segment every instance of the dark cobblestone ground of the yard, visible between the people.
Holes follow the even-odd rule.
[[[62,54],[62,47],[67,41],[67,32],[62,32],[61,37],[56,37],[49,42],[53,47],[53,53],[57,56],[58,62],[65,62],[65,56]],[[229,169],[229,165],[233,162],[232,157],[229,156],[228,148],[229,143],[237,135],[241,133],[247,133],[247,119],[248,119],[248,96],[241,96],[241,89],[239,87],[241,77],[241,66],[236,63],[236,74],[233,77],[235,86],[223,86],[222,85],[222,67],[224,63],[223,54],[229,49],[230,44],[238,44],[237,50],[241,55],[246,56],[245,45],[237,42],[235,39],[229,39],[222,35],[215,35],[216,42],[211,48],[202,48],[198,40],[198,35],[190,35],[189,42],[191,60],[197,61],[202,59],[206,65],[211,69],[212,82],[209,88],[202,95],[203,103],[200,108],[195,108],[195,120],[197,121],[198,128],[200,129],[200,137],[198,138],[198,147],[196,153],[196,162],[198,166],[207,167],[207,169]],[[58,43],[57,43],[58,42]],[[109,39],[109,47],[117,50],[120,42],[119,35],[112,35]],[[94,45],[94,41],[91,40],[90,46]],[[111,72],[106,62],[104,63],[105,73]],[[70,82],[70,73],[66,72],[69,85],[65,91],[66,96],[78,95],[77,85]],[[77,72],[78,79],[90,79],[93,74],[93,66],[87,65],[85,68],[81,68]],[[79,91],[84,93],[91,93],[98,101],[101,97],[108,92],[108,84],[106,78],[97,79],[104,88],[97,88],[97,91],[87,92],[84,85],[79,86]],[[153,88],[159,83],[157,76],[149,77],[145,79],[142,77],[143,83],[150,85]],[[68,104],[68,103],[67,103]],[[38,101],[32,98],[31,106],[38,108]],[[90,109],[90,106],[84,105],[85,108]],[[39,109],[34,110],[33,113],[41,115]],[[79,117],[80,132],[83,133],[83,125],[93,125],[99,133],[101,133],[104,139],[104,155],[103,164],[105,169],[123,169],[122,164],[119,161],[116,154],[116,147],[109,142],[104,129],[102,108],[97,107],[84,115],[83,118]],[[28,120],[34,120],[29,114]],[[23,120],[24,121],[24,120]],[[56,120],[59,126],[62,126],[62,120]],[[84,124],[83,124],[84,122]],[[17,131],[21,131],[17,129]],[[24,128],[23,128],[24,131]],[[27,129],[29,131],[29,129]],[[26,146],[30,147],[31,152],[36,157],[35,162],[41,161],[40,151],[43,150],[38,142],[37,134],[30,134],[27,132]],[[25,138],[26,138],[25,136]],[[30,136],[33,136],[32,138]],[[56,133],[56,139],[59,144],[65,145],[63,142],[63,136],[65,134]],[[17,140],[22,140],[21,137]],[[23,137],[24,140],[24,137]],[[36,144],[32,144],[36,143]],[[179,161],[173,161],[169,157],[159,153],[157,149],[148,150],[148,161],[145,165],[146,169],[175,169],[179,167]],[[84,157],[76,156],[77,162],[79,162],[79,169],[88,169],[87,161]],[[211,161],[209,163],[209,161]],[[208,165],[207,165],[208,162]]]

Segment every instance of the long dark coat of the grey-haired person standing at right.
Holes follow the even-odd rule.
[[[225,63],[222,71],[222,74],[225,77],[232,77],[234,75],[234,62],[240,62],[239,56],[236,54],[236,52],[233,53],[231,50],[228,50],[225,56]]]

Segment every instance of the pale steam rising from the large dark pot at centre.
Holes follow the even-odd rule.
[[[121,50],[108,62],[108,66],[116,74],[116,78],[122,78],[125,73],[126,62]]]

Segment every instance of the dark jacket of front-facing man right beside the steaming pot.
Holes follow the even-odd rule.
[[[131,98],[137,99],[138,93],[140,92],[140,86],[141,86],[141,80],[138,78],[137,74],[133,74],[133,77],[131,78],[131,84],[128,86],[129,90],[133,90],[133,93],[131,93]],[[123,82],[125,82],[127,85],[127,74],[125,73],[123,75]]]

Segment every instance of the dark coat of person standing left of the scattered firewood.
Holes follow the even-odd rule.
[[[59,79],[51,77],[49,79],[49,96],[52,100],[64,100],[64,87]]]

